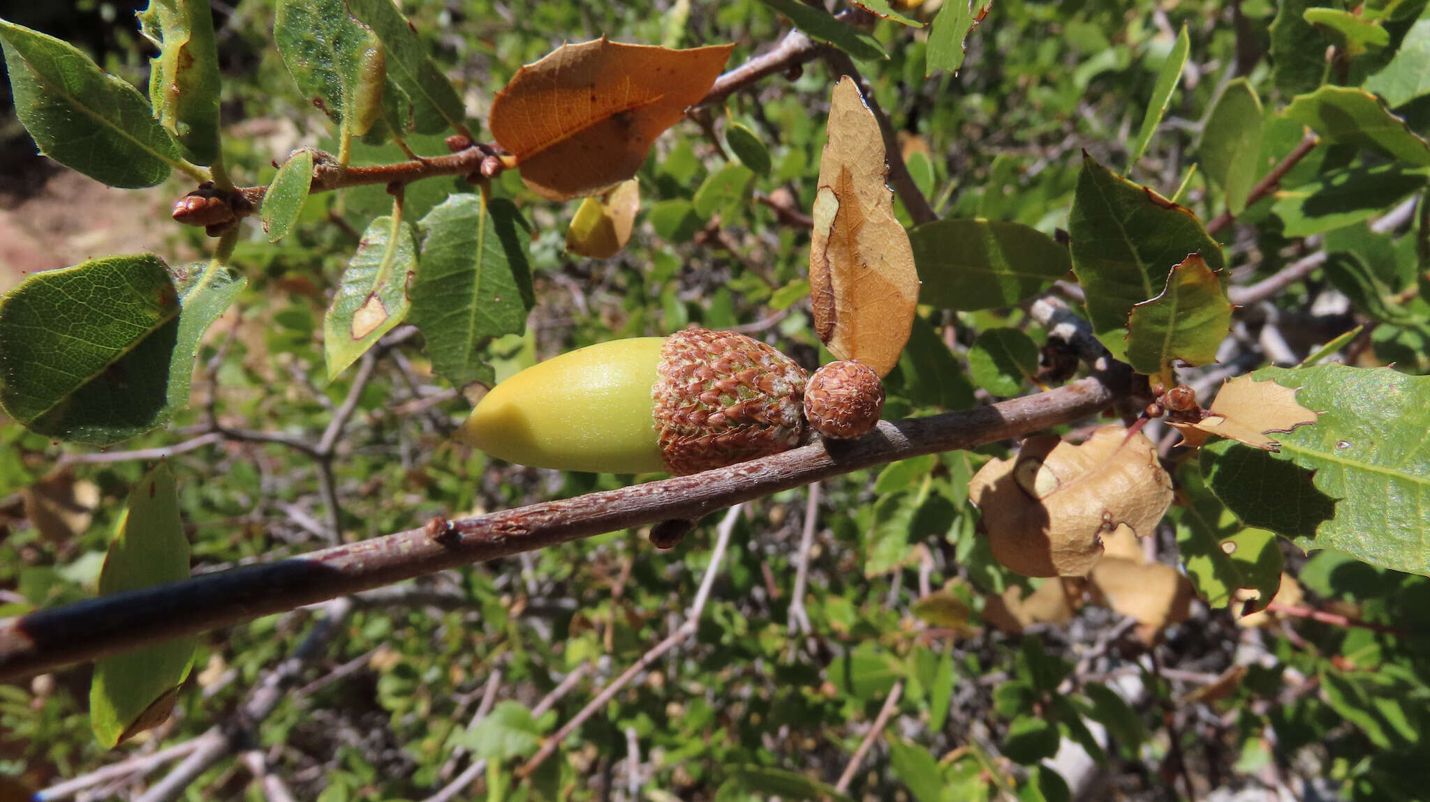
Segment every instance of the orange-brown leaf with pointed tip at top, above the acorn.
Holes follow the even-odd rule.
[[[732,47],[563,44],[496,93],[492,136],[542,197],[598,196],[635,176],[655,137],[705,97]]]

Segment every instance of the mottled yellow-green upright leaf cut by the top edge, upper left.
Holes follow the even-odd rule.
[[[219,158],[219,50],[204,0],[149,0],[139,30],[159,47],[149,60],[154,117],[196,164]]]

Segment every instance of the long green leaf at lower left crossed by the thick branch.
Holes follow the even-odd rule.
[[[169,465],[160,462],[129,492],[129,505],[109,542],[99,592],[109,595],[187,578],[189,541],[179,519],[174,478]],[[172,694],[189,675],[197,642],[197,638],[177,638],[96,661],[90,724],[102,746],[113,748],[122,736],[167,718]],[[150,716],[157,719],[144,716],[150,705],[154,705]]]

